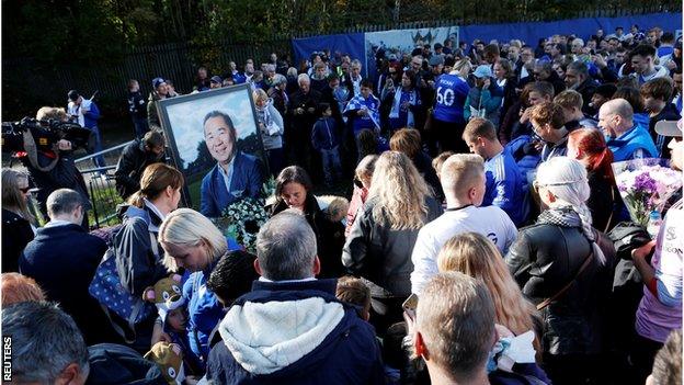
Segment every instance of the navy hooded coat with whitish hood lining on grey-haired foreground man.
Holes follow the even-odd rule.
[[[217,384],[384,384],[373,327],[334,296],[337,280],[255,281],[219,326]],[[269,306],[262,306],[267,304]]]

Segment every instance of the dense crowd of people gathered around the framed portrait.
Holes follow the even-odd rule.
[[[229,115],[204,118],[217,163],[200,211],[180,207],[185,179],[157,113],[179,93],[162,77],[147,100],[128,84],[121,225],[89,233],[68,140],[27,151],[27,173],[2,169],[12,381],[681,383],[682,197],[651,239],[612,165],[682,170],[682,42],[635,25],[456,43],[377,49],[372,79],[328,49],[299,69],[275,54],[261,70],[198,69],[192,92],[253,92],[275,177],[254,250],[209,219],[261,194]],[[69,114],[37,118],[99,135],[92,99],[68,97]],[[346,215],[314,192],[341,184]]]

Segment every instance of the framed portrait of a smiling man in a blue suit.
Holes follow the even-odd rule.
[[[185,206],[219,217],[228,205],[260,196],[269,165],[249,84],[158,103],[174,166],[185,177]]]

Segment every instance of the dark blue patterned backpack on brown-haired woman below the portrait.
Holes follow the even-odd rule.
[[[122,285],[121,278],[116,269],[116,249],[114,248],[114,237],[122,229],[123,225],[114,226],[107,230],[99,230],[94,235],[104,239],[109,248],[102,257],[100,265],[95,270],[88,292],[98,299],[104,314],[110,319],[114,330],[122,336],[127,343],[136,340],[135,325],[156,314],[153,304],[142,301],[141,297],[134,296]],[[159,249],[157,240],[152,233],[149,233],[152,252],[158,256]],[[115,315],[113,317],[112,313]],[[124,330],[122,322],[116,319],[121,318],[127,330]],[[130,338],[130,336],[133,336]]]

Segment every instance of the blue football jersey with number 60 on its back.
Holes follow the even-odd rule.
[[[456,75],[442,75],[435,92],[434,117],[442,122],[465,123],[463,111],[470,87]]]

